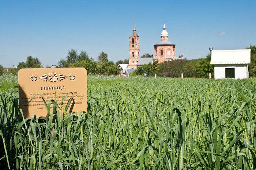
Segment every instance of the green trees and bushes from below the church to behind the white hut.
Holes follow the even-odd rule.
[[[256,46],[250,45],[246,49],[251,49],[251,63],[248,64],[249,77],[256,77]],[[214,77],[214,65],[210,62],[210,54],[206,58],[154,62],[140,66],[132,72],[132,75],[154,76],[157,74],[160,77],[181,77],[183,73],[184,77],[208,78],[211,73],[211,77]]]

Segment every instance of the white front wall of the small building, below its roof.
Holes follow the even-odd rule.
[[[225,78],[225,68],[235,68],[235,79],[247,78],[247,65],[214,65],[214,78]]]

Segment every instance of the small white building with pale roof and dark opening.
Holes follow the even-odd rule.
[[[211,64],[214,78],[248,78],[248,64],[251,63],[251,49],[212,50]]]

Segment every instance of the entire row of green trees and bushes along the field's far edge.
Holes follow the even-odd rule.
[[[251,49],[251,63],[248,65],[248,71],[250,77],[256,77],[256,46],[250,45],[246,49]],[[144,54],[142,57],[153,57],[150,54]],[[153,64],[148,63],[138,67],[132,75],[147,75],[164,77],[181,77],[183,73],[184,77],[200,77],[207,78],[209,73],[214,77],[214,66],[210,64],[211,55],[207,55],[206,58],[200,59],[183,59],[174,60],[163,63],[155,61]],[[86,51],[80,51],[77,53],[75,49],[68,51],[68,55],[64,59],[60,59],[57,67],[84,67],[88,74],[120,74],[120,69],[117,67],[119,64],[128,64],[129,59],[119,60],[116,63],[108,60],[108,54],[101,52],[98,55],[97,61],[93,58],[89,58]],[[18,73],[19,69],[22,68],[40,68],[42,67],[41,62],[38,58],[32,56],[27,57],[26,62],[19,62],[17,68],[10,68],[8,72]],[[4,67],[0,65],[0,74],[4,72]]]

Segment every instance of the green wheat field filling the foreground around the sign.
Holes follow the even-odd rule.
[[[40,119],[17,81],[0,77],[1,169],[256,169],[256,78],[88,75],[87,113]]]

